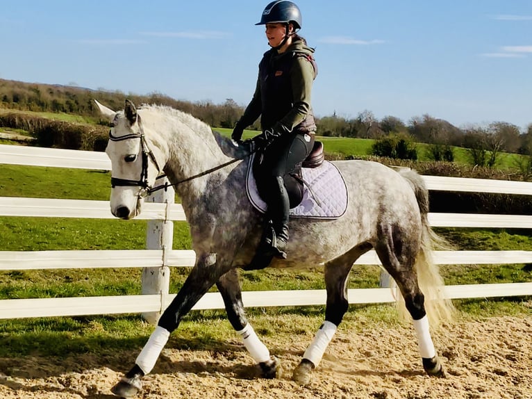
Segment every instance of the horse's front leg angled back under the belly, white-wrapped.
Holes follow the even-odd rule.
[[[242,289],[238,279],[238,271],[231,269],[220,277],[216,283],[218,291],[224,299],[229,323],[242,336],[244,346],[258,363],[265,378],[275,378],[279,371],[279,359],[269,355],[269,350],[260,341],[255,330],[249,324],[242,304]]]

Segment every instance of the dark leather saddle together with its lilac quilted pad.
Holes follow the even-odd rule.
[[[347,209],[344,178],[333,163],[325,161],[323,149],[323,143],[315,141],[301,168],[283,177],[290,199],[290,218],[335,219]],[[263,195],[267,193],[261,189],[260,181],[256,181],[258,162],[255,155],[249,159],[246,191],[251,204],[261,213],[266,213]]]

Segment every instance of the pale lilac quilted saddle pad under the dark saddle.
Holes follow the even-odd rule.
[[[247,168],[247,197],[258,211],[265,213],[267,204],[258,195],[257,184],[253,176],[254,156],[255,154],[249,157]],[[302,168],[301,174],[306,183],[303,185],[303,199],[298,206],[290,209],[290,218],[340,218],[345,213],[348,202],[347,186],[340,170],[329,161],[324,161],[318,168]]]

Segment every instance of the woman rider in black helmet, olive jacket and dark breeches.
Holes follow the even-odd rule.
[[[313,149],[316,124],[310,94],[317,66],[314,49],[297,34],[301,12],[295,3],[272,1],[256,25],[266,26],[272,48],[260,60],[255,93],[231,138],[242,142],[244,129],[260,116],[262,133],[251,142],[262,155],[258,172],[268,209],[258,254],[286,259],[290,203],[283,176],[296,171]]]

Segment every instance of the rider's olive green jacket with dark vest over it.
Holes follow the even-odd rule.
[[[310,98],[317,66],[314,49],[295,38],[290,47],[279,54],[266,51],[258,66],[255,93],[238,122],[248,127],[260,116],[263,131],[308,133],[316,130]]]

